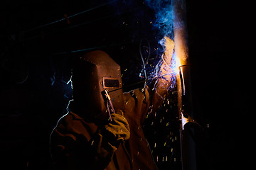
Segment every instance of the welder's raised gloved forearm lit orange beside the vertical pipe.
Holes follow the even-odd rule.
[[[154,110],[161,106],[171,85],[171,57],[174,53],[174,41],[171,38],[165,37],[164,45],[166,49],[162,55],[162,63],[159,70],[160,77],[156,80],[153,91],[152,104]]]

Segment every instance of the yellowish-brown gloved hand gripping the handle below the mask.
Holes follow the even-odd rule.
[[[128,140],[130,137],[129,123],[124,118],[122,111],[111,114],[112,122],[105,125],[105,130],[116,141]]]

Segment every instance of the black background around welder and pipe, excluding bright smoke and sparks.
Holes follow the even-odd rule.
[[[244,1],[186,5],[194,115],[209,125],[210,164],[249,169],[256,158],[255,9]],[[12,0],[0,8],[0,168],[48,169],[49,135],[71,98],[73,58],[105,50],[121,65],[124,85],[132,84],[142,70],[140,40],[150,42],[156,64],[162,35],[152,26],[154,11],[140,0]],[[70,23],[52,23],[90,8]]]

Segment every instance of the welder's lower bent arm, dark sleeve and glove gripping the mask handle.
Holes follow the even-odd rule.
[[[122,115],[112,114],[112,122],[92,137],[80,132],[81,124],[68,124],[60,124],[51,137],[55,169],[105,169],[119,142],[129,139],[129,124]]]

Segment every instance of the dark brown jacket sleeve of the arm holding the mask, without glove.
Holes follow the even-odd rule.
[[[50,135],[55,169],[105,169],[117,147],[111,145],[93,123],[68,113]]]

